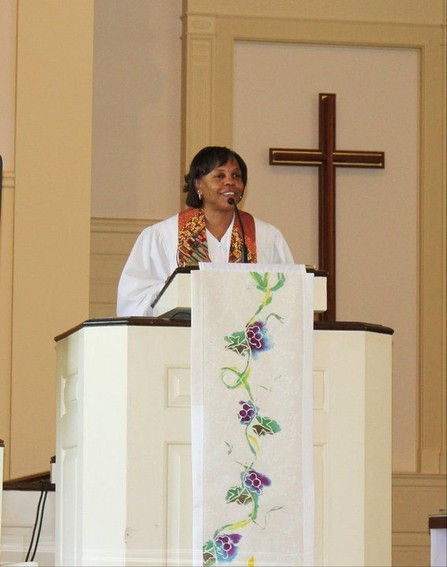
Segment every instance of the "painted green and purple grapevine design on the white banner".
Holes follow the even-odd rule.
[[[281,289],[285,283],[285,276],[282,273],[250,272],[251,277],[256,283],[256,289],[263,293],[263,299],[255,314],[250,318],[242,331],[236,331],[231,335],[225,336],[228,343],[227,350],[236,352],[241,358],[245,359],[242,369],[236,367],[221,368],[220,377],[226,388],[234,390],[242,388],[244,399],[239,402],[237,408],[237,418],[240,425],[244,428],[245,440],[252,454],[252,461],[243,465],[240,473],[240,483],[232,486],[226,494],[228,504],[239,504],[247,506],[247,517],[243,520],[226,524],[215,530],[212,539],[208,540],[203,546],[203,564],[206,566],[221,563],[230,563],[237,556],[239,544],[243,537],[240,533],[249,524],[256,524],[259,513],[259,502],[264,489],[269,487],[272,481],[256,469],[257,455],[260,449],[260,440],[265,435],[274,435],[281,431],[277,421],[262,415],[261,409],[257,407],[256,401],[250,387],[250,374],[252,362],[256,360],[262,352],[273,347],[272,337],[268,331],[268,321],[274,317],[282,322],[283,319],[276,313],[265,315],[265,309],[273,299],[273,294]],[[270,285],[270,278],[276,275],[276,282]],[[229,453],[231,452],[231,448]],[[275,507],[269,512],[279,510]],[[254,557],[249,560],[249,566],[255,564]]]

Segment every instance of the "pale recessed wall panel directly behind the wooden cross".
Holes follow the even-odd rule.
[[[237,42],[233,80],[234,145],[251,167],[244,205],[269,214],[299,263],[318,265],[318,171],[272,167],[268,148],[317,148],[328,92],[337,148],[385,152],[384,170],[336,173],[337,318],[395,329],[393,466],[416,470],[418,53]]]

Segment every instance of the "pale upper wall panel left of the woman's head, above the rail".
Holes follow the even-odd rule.
[[[96,0],[92,215],[165,218],[180,186],[181,0]]]

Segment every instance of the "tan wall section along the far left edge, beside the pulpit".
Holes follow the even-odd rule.
[[[93,2],[4,4],[6,25],[17,8],[17,67],[14,50],[2,51],[2,85],[16,88],[16,115],[9,106],[6,118],[0,280],[8,478],[49,468],[54,337],[88,316]],[[15,26],[7,29],[11,38]]]

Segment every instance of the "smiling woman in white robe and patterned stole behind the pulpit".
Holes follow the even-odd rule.
[[[118,285],[120,317],[152,315],[151,303],[179,266],[244,261],[293,264],[282,234],[249,213],[235,214],[247,184],[247,166],[220,146],[200,150],[185,176],[188,208],[156,223],[138,237]]]

